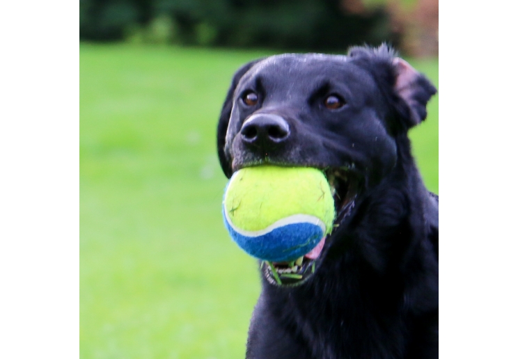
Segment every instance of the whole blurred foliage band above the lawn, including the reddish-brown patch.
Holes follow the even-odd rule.
[[[80,0],[81,40],[437,55],[437,0]]]

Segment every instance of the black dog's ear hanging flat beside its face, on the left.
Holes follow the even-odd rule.
[[[250,68],[261,61],[262,58],[258,60],[251,61],[246,65],[240,67],[234,74],[232,79],[232,83],[230,83],[230,88],[228,89],[228,93],[226,95],[225,102],[223,102],[223,109],[221,109],[221,115],[219,115],[218,122],[218,131],[217,131],[217,147],[218,147],[218,157],[219,163],[221,164],[221,168],[223,169],[223,173],[225,173],[227,178],[232,176],[232,164],[230,163],[230,159],[226,157],[225,154],[225,141],[226,141],[226,131],[228,128],[228,121],[230,120],[230,113],[232,113],[232,105],[233,105],[233,97],[234,91],[237,87],[237,83],[240,82],[240,79]]]

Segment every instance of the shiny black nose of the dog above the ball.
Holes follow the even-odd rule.
[[[281,116],[271,113],[251,115],[241,128],[241,137],[244,143],[264,147],[286,141],[290,136],[290,127]]]

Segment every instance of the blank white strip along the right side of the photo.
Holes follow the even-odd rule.
[[[513,8],[439,6],[440,358],[518,356]]]

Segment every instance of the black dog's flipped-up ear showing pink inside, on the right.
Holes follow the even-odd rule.
[[[425,120],[426,104],[437,93],[437,89],[402,58],[393,58],[392,64],[395,68],[395,93],[407,108],[403,117],[407,120],[408,128],[414,127]]]

